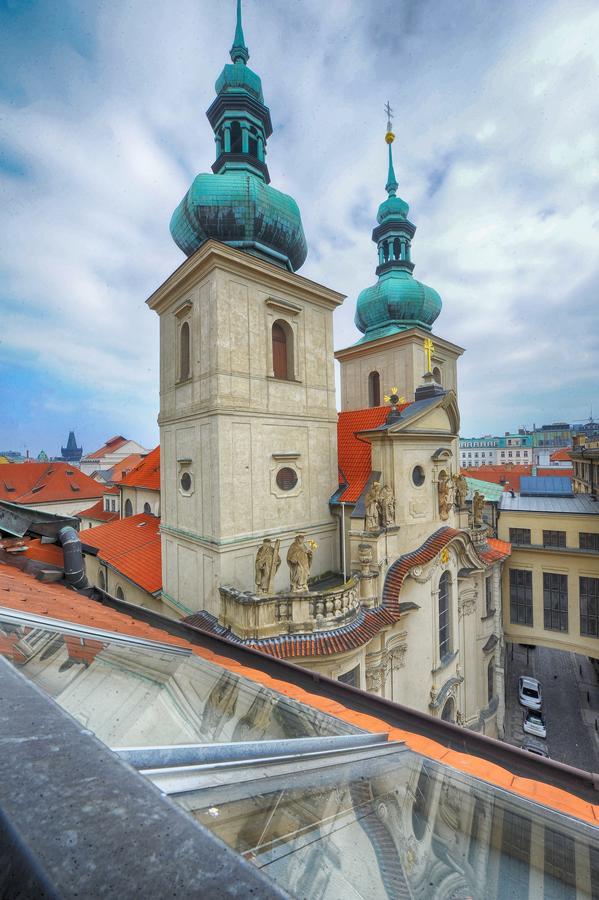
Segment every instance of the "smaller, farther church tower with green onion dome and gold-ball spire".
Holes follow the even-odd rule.
[[[431,340],[442,303],[437,291],[412,275],[416,226],[408,219],[408,204],[397,196],[389,104],[387,114],[387,199],[379,206],[378,224],[372,232],[378,250],[378,280],[358,296],[355,323],[364,336],[354,346],[335,353],[341,365],[342,410],[380,406],[392,385],[412,402],[429,371],[436,384],[455,392],[456,362],[463,353],[461,347],[438,336]]]

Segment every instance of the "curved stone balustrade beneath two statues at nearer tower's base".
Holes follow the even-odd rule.
[[[219,623],[243,640],[340,628],[352,622],[360,610],[356,578],[329,590],[298,594],[262,596],[221,587],[220,597]]]

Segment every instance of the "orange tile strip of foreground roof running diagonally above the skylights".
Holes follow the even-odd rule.
[[[510,772],[509,769],[479,756],[450,750],[444,744],[427,738],[416,731],[390,725],[384,718],[385,710],[383,707],[377,707],[380,718],[351,709],[339,701],[312,693],[287,680],[288,673],[284,669],[281,670],[280,678],[274,678],[261,670],[259,666],[254,667],[252,658],[249,655],[244,658],[243,663],[240,663],[235,659],[232,660],[227,656],[210,650],[208,647],[191,643],[191,641],[187,641],[183,637],[175,636],[167,631],[162,631],[160,628],[147,625],[145,622],[134,619],[126,613],[102,606],[89,597],[68,590],[62,585],[42,584],[18,569],[9,568],[0,563],[0,607],[2,606],[32,615],[49,616],[64,622],[78,623],[88,628],[99,628],[132,637],[145,638],[150,641],[159,641],[176,647],[184,647],[202,659],[208,660],[225,670],[234,671],[255,684],[271,688],[298,703],[303,703],[321,712],[336,716],[342,721],[349,722],[351,725],[355,725],[364,731],[371,733],[387,732],[389,740],[404,741],[406,746],[415,753],[437,760],[459,772],[465,772],[495,787],[511,791],[520,797],[540,803],[566,815],[575,816],[592,825],[599,824],[598,805],[591,804],[563,788],[546,784],[543,781],[523,778]],[[12,645],[15,643],[12,640],[13,637],[13,635],[8,635],[6,639],[0,642],[0,653],[11,659],[14,653]],[[89,656],[93,658],[97,649],[97,641],[93,639],[89,641],[85,639],[85,641],[86,645],[89,645]],[[72,643],[74,644],[74,642]],[[81,642],[79,641],[79,643]],[[491,739],[489,738],[488,740]],[[539,763],[539,777],[542,776],[542,765],[542,763]]]

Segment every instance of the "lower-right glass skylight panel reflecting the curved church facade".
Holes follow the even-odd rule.
[[[275,760],[169,794],[293,897],[536,900],[599,889],[596,828],[397,744]]]

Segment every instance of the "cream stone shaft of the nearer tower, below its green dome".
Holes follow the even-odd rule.
[[[302,531],[318,545],[312,573],[337,569],[328,500],[337,485],[332,313],[342,300],[212,241],[149,299],[160,316],[164,596],[182,612],[218,615],[221,585],[253,586],[265,536],[280,540],[283,557]],[[275,373],[275,324],[286,378]],[[287,577],[281,567],[277,590]]]

